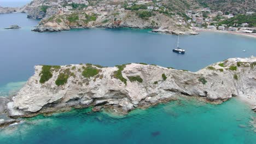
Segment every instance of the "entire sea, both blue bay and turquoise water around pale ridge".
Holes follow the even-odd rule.
[[[149,29],[74,29],[36,33],[26,14],[0,15],[0,96],[17,91],[37,64],[144,62],[197,71],[230,57],[256,55],[256,39],[203,32],[182,36],[185,55],[173,53],[177,36]],[[21,29],[4,30],[18,24]],[[246,50],[246,52],[242,52]],[[233,98],[222,105],[172,101],[117,117],[90,109],[28,118],[0,129],[0,143],[248,143],[256,141],[249,106]],[[245,127],[245,128],[241,128]]]

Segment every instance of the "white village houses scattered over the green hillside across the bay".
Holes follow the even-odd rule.
[[[118,1],[119,2],[119,1]],[[232,19],[235,15],[232,13],[223,13],[223,11],[213,11],[210,8],[196,8],[193,10],[173,11],[168,8],[165,1],[162,0],[125,0],[120,3],[112,2],[96,2],[86,0],[58,0],[56,2],[47,2],[42,7],[55,7],[59,14],[72,13],[73,10],[91,10],[96,14],[98,11],[112,11],[112,10],[147,10],[158,11],[159,13],[173,17],[178,21],[178,25],[188,26],[195,31],[233,31],[241,33],[256,33],[255,23],[234,23],[234,25],[227,25],[223,23],[228,19]],[[254,11],[247,11],[243,15],[255,15]]]

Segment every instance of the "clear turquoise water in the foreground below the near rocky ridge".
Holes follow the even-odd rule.
[[[195,100],[172,101],[125,117],[73,110],[29,118],[0,131],[0,143],[248,143],[256,134],[248,125],[255,116],[241,101],[222,105]],[[239,125],[246,125],[240,128]]]

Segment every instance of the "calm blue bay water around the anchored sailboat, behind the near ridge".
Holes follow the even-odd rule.
[[[37,33],[30,29],[36,20],[26,14],[0,15],[0,86],[26,81],[37,64],[94,63],[104,66],[143,62],[197,71],[230,57],[256,55],[256,39],[205,32],[186,35],[180,46],[185,55],[172,52],[177,36],[151,33],[145,29],[75,29]],[[18,24],[21,29],[2,28]],[[246,50],[246,52],[242,52]]]

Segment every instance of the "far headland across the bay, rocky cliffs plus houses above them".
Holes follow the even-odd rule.
[[[159,5],[153,1],[34,0],[15,11],[27,13],[31,19],[42,19],[32,29],[36,32],[128,27],[151,28],[154,32],[169,34],[198,34],[184,21],[181,11],[172,11]]]

